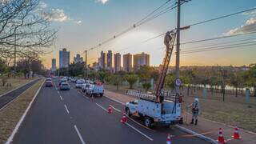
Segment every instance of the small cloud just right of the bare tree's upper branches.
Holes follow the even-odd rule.
[[[42,16],[54,22],[66,22],[70,20],[62,9],[51,9],[50,12],[42,12]]]

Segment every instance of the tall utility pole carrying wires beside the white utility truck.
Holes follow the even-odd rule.
[[[180,26],[181,26],[181,0],[177,2],[177,38],[176,38],[176,67],[175,67],[175,78],[176,80],[179,79],[179,46],[180,46]],[[179,95],[179,86],[175,85],[175,92]]]

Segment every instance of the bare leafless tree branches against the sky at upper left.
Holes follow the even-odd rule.
[[[57,30],[39,10],[39,0],[0,1],[0,56],[13,58],[14,46],[19,58],[44,54],[52,46]]]

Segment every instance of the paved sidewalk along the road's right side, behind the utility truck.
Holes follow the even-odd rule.
[[[106,97],[117,100],[118,102],[126,103],[134,99],[134,97],[126,94],[118,94],[109,90],[105,90]],[[222,128],[224,138],[228,143],[232,144],[254,144],[256,143],[256,134],[247,130],[239,129],[239,134],[242,137],[240,140],[232,139],[231,136],[234,133],[234,127],[228,126],[220,122],[213,122],[205,118],[198,118],[198,125],[190,125],[191,115],[183,113],[184,124],[180,125],[186,129],[193,130],[198,134],[202,134],[211,139],[218,139],[218,129]]]

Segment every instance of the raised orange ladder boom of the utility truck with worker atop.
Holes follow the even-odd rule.
[[[172,31],[168,31],[166,33],[165,39],[164,39],[164,43],[166,45],[166,55],[165,58],[162,61],[162,66],[159,67],[159,76],[158,76],[158,81],[156,83],[155,86],[155,95],[156,95],[156,102],[163,102],[163,95],[161,94],[162,88],[164,86],[164,82],[166,79],[166,73],[168,70],[168,66],[170,64],[170,58],[171,58],[171,54],[174,50],[174,40],[176,37],[176,32],[174,32],[174,30]]]

